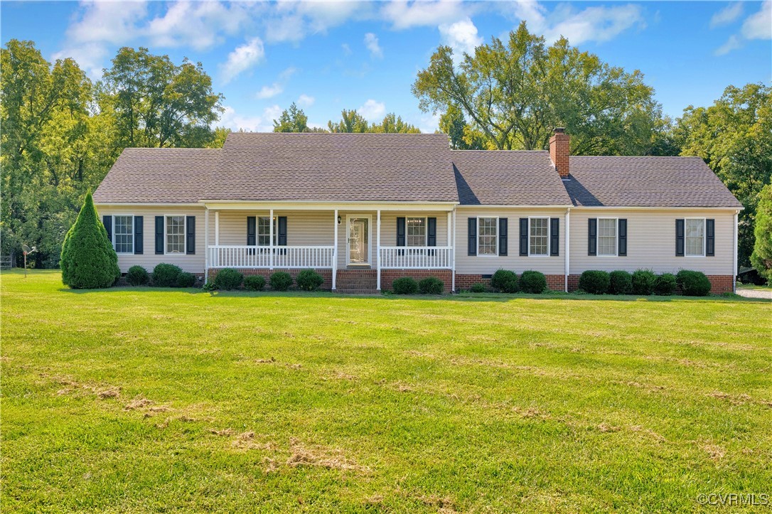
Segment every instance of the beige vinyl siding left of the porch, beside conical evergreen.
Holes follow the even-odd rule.
[[[198,207],[180,206],[147,206],[132,207],[129,205],[97,205],[100,221],[103,216],[133,215],[143,216],[143,246],[144,253],[119,253],[118,267],[125,273],[133,265],[141,265],[148,272],[152,272],[155,265],[160,262],[168,262],[180,266],[187,272],[201,274],[204,272],[204,215],[205,209]],[[155,253],[155,217],[156,216],[195,216],[195,255],[168,254],[156,255]],[[164,241],[165,247],[165,241]]]

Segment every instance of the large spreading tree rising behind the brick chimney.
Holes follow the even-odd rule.
[[[642,73],[609,66],[565,38],[547,47],[525,22],[506,45],[493,38],[458,66],[453,57],[439,46],[418,73],[412,92],[419,107],[461,110],[499,150],[545,149],[553,128],[566,127],[574,154],[640,155],[661,118]]]

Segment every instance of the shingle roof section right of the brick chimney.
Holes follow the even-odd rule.
[[[564,181],[584,207],[741,207],[699,157],[571,156]]]

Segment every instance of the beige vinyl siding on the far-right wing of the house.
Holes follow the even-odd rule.
[[[587,219],[624,218],[628,221],[627,256],[587,255]],[[675,220],[716,220],[713,257],[676,257]],[[694,269],[706,275],[734,274],[734,211],[709,209],[571,209],[571,274],[587,269],[614,271],[652,269],[655,273]]]

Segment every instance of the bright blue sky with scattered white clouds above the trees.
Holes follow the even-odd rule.
[[[551,42],[640,69],[665,113],[708,105],[730,84],[772,83],[765,2],[2,2],[2,42],[32,39],[46,59],[90,76],[121,46],[201,61],[225,95],[220,125],[271,130],[293,101],[314,125],[357,109],[396,112],[422,130],[410,92],[440,44],[471,51],[520,20]]]

